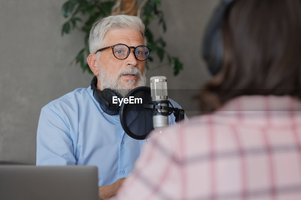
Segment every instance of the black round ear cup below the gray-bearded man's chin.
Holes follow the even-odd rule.
[[[106,105],[104,108],[104,112],[109,115],[118,115],[119,114],[119,102],[113,104],[113,97],[117,97],[122,99],[122,97],[117,93],[114,92],[112,89],[106,88],[101,91],[102,98],[106,100]]]

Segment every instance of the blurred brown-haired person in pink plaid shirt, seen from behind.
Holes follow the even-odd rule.
[[[203,115],[153,133],[114,199],[301,199],[301,1],[225,5]]]

